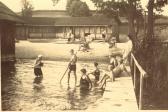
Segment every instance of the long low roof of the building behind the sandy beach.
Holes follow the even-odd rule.
[[[30,25],[49,25],[49,26],[107,26],[114,25],[117,22],[115,19],[105,16],[90,16],[90,17],[32,17],[28,19]]]

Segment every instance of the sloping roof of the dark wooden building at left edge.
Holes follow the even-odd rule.
[[[6,5],[0,2],[0,20],[8,20],[13,22],[23,23],[24,21],[17,16],[11,9],[9,9]]]

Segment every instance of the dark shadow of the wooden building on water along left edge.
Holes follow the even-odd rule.
[[[19,80],[15,77],[15,72],[15,62],[1,63],[2,110],[14,110],[11,96],[15,95],[16,86],[19,84]],[[13,83],[15,83],[15,86],[13,86]]]

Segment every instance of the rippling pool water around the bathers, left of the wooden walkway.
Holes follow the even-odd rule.
[[[18,110],[85,110],[94,105],[103,95],[102,90],[80,91],[74,87],[74,77],[71,75],[70,86],[67,86],[65,76],[62,77],[68,62],[44,61],[42,68],[44,77],[35,78],[33,73],[34,60],[22,59],[15,63],[2,63],[2,109]],[[79,62],[77,64],[78,82],[80,69],[93,70],[92,63]],[[107,64],[101,64],[107,68]],[[93,77],[91,77],[93,79]]]

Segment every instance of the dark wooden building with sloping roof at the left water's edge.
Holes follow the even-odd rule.
[[[15,57],[15,23],[22,22],[12,10],[0,2],[1,61]]]

